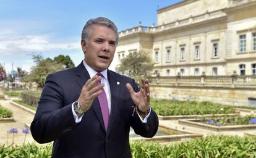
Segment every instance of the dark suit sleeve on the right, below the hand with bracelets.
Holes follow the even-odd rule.
[[[137,83],[135,83],[135,80],[132,80],[132,86],[134,88],[135,92],[139,91]],[[137,135],[151,138],[155,136],[156,131],[158,130],[158,117],[155,113],[155,111],[151,108],[151,113],[147,119],[147,123],[143,123],[139,115],[134,114],[132,116],[132,128],[134,129],[135,133]]]

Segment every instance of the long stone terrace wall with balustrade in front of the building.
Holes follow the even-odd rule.
[[[232,106],[255,106],[256,77],[151,78],[152,98],[211,101]]]

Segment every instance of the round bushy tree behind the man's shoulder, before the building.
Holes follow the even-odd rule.
[[[128,56],[124,57],[116,70],[139,82],[141,78],[148,78],[151,76],[153,65],[153,60],[148,53],[140,51],[130,53]]]

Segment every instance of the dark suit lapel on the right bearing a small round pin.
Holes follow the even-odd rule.
[[[108,70],[108,81],[110,86],[110,93],[111,93],[111,114],[109,118],[108,124],[108,131],[107,136],[109,135],[111,129],[114,126],[114,119],[116,118],[117,114],[117,103],[119,101],[119,94],[120,94],[120,81],[116,77],[114,77],[114,73]]]

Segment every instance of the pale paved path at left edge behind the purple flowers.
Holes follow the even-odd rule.
[[[19,107],[10,104],[10,100],[0,100],[0,104],[7,109],[11,109],[15,122],[0,123],[0,144],[7,144],[7,131],[11,128],[18,128],[19,133],[14,134],[14,143],[22,144],[25,138],[25,134],[22,133],[22,128],[25,128],[25,123],[31,123],[34,115],[25,112]],[[26,142],[34,142],[32,135],[27,135]],[[12,134],[9,135],[8,144],[12,143]]]

